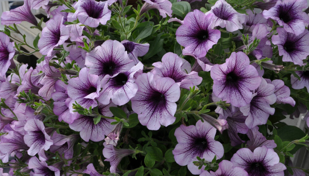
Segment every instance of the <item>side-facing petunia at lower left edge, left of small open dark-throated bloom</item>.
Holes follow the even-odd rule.
[[[23,140],[23,136],[26,133],[24,130],[19,132],[15,128],[12,128],[10,124],[7,124],[3,131],[7,134],[1,138],[0,153],[3,155],[0,155],[0,159],[3,163],[7,163],[12,154],[15,154],[21,150],[28,150],[29,147]]]

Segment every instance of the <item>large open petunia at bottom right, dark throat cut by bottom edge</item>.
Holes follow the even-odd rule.
[[[248,176],[284,176],[286,166],[279,162],[279,157],[273,149],[265,146],[250,149],[239,149],[231,158],[235,166],[241,167],[248,172]]]

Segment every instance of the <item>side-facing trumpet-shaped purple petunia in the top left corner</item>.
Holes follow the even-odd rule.
[[[34,26],[37,26],[36,17],[31,12],[31,2],[32,0],[24,0],[23,6],[3,12],[1,15],[1,24],[19,24],[23,21],[28,21]]]

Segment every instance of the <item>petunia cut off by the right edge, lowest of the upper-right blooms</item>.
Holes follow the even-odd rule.
[[[295,73],[300,77],[300,81],[293,74],[291,74],[292,88],[303,89],[306,87],[309,92],[309,71],[295,71]]]

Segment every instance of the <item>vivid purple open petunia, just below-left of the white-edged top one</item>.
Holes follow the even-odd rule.
[[[220,31],[210,27],[212,16],[200,10],[189,12],[184,18],[184,24],[176,31],[177,42],[196,57],[204,57],[220,39]]]

